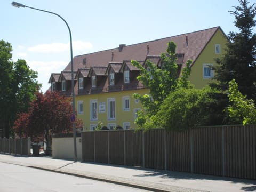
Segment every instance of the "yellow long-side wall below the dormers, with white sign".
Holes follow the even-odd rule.
[[[141,103],[136,101],[132,95],[133,93],[148,94],[148,89],[138,89],[120,92],[108,92],[100,94],[86,94],[75,97],[76,110],[78,109],[78,102],[83,102],[83,113],[79,114],[77,111],[77,118],[83,121],[83,130],[91,130],[92,126],[101,122],[102,126],[116,125],[124,127],[124,123],[130,123],[130,128],[134,129],[137,125],[134,124],[134,109],[141,109]],[[129,97],[129,110],[123,110],[123,97]],[[115,99],[115,119],[108,119],[108,99]],[[90,118],[90,101],[97,101],[97,119]],[[101,107],[100,107],[101,106]],[[105,111],[103,107],[105,106]]]

